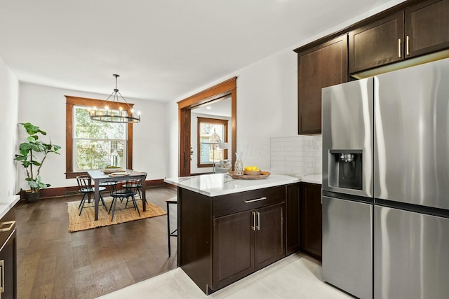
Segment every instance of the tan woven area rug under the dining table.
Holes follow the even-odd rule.
[[[112,202],[112,197],[105,198],[106,207],[109,209]],[[118,201],[116,205],[116,211],[114,214],[114,221],[111,221],[111,214],[107,214],[105,207],[101,204],[98,207],[98,221],[94,221],[95,218],[95,208],[93,207],[93,202],[90,204],[86,202],[83,208],[81,216],[79,216],[79,201],[67,202],[68,208],[67,213],[69,214],[69,232],[77,232],[79,230],[88,230],[91,228],[98,228],[100,226],[113,225],[143,218],[150,218],[156,216],[166,215],[161,207],[156,206],[152,202],[147,203],[147,211],[142,211],[142,200],[138,200],[138,207],[140,210],[140,216],[138,211],[133,208],[133,202],[128,202],[128,209],[121,209],[125,207],[126,200],[123,202]]]

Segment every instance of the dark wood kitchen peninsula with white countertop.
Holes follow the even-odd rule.
[[[299,178],[206,174],[164,181],[178,187],[178,265],[204,293],[299,250]]]

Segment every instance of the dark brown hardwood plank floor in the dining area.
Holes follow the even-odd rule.
[[[152,187],[146,195],[166,210],[176,189]],[[168,258],[167,216],[68,232],[67,202],[74,200],[81,197],[18,204],[18,298],[95,298],[175,269],[177,242],[171,238]]]

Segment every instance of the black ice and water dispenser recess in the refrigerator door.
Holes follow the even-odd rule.
[[[329,151],[329,186],[362,190],[362,150]]]

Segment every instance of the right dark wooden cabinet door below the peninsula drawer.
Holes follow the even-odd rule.
[[[255,210],[255,270],[286,256],[284,207],[281,203]]]

